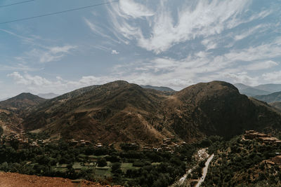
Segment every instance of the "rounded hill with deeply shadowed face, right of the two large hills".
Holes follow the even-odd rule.
[[[174,124],[178,134],[197,129],[203,134],[230,138],[245,129],[280,128],[279,113],[266,104],[240,95],[230,83],[199,83],[181,90],[176,96],[182,102],[181,116]]]

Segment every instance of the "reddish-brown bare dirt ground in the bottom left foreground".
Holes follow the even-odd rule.
[[[0,172],[1,187],[105,187],[91,181],[72,181],[60,177],[35,176],[18,173]]]

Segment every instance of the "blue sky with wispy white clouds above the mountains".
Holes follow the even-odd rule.
[[[124,80],[281,83],[281,1],[0,1],[0,99]]]

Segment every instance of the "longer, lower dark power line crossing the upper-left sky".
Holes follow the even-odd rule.
[[[8,22],[0,22],[0,25],[11,23],[11,22],[20,22],[20,21],[23,21],[23,20],[32,20],[34,18],[42,18],[42,17],[46,17],[46,16],[50,16],[50,15],[57,15],[57,14],[60,14],[60,13],[67,13],[67,12],[71,12],[71,11],[79,11],[79,10],[82,10],[82,9],[91,8],[91,7],[95,7],[95,6],[101,6],[101,5],[105,5],[105,4],[116,3],[118,1],[119,0],[110,1],[110,2],[106,2],[106,3],[102,3],[102,4],[95,4],[95,5],[91,5],[91,6],[83,6],[83,7],[79,7],[79,8],[72,8],[72,9],[69,9],[69,10],[66,10],[66,11],[60,11],[60,12],[55,12],[55,13],[47,13],[47,14],[43,14],[43,15],[36,15],[36,16],[29,17],[29,18],[21,18],[21,19],[18,19],[18,20],[11,20],[11,21],[8,21]]]

